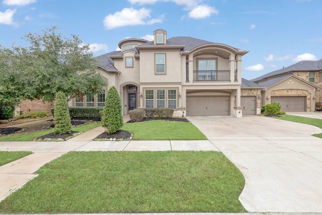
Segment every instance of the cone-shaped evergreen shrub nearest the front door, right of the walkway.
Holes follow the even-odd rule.
[[[107,133],[115,133],[123,126],[121,100],[114,86],[107,93],[101,124]]]

